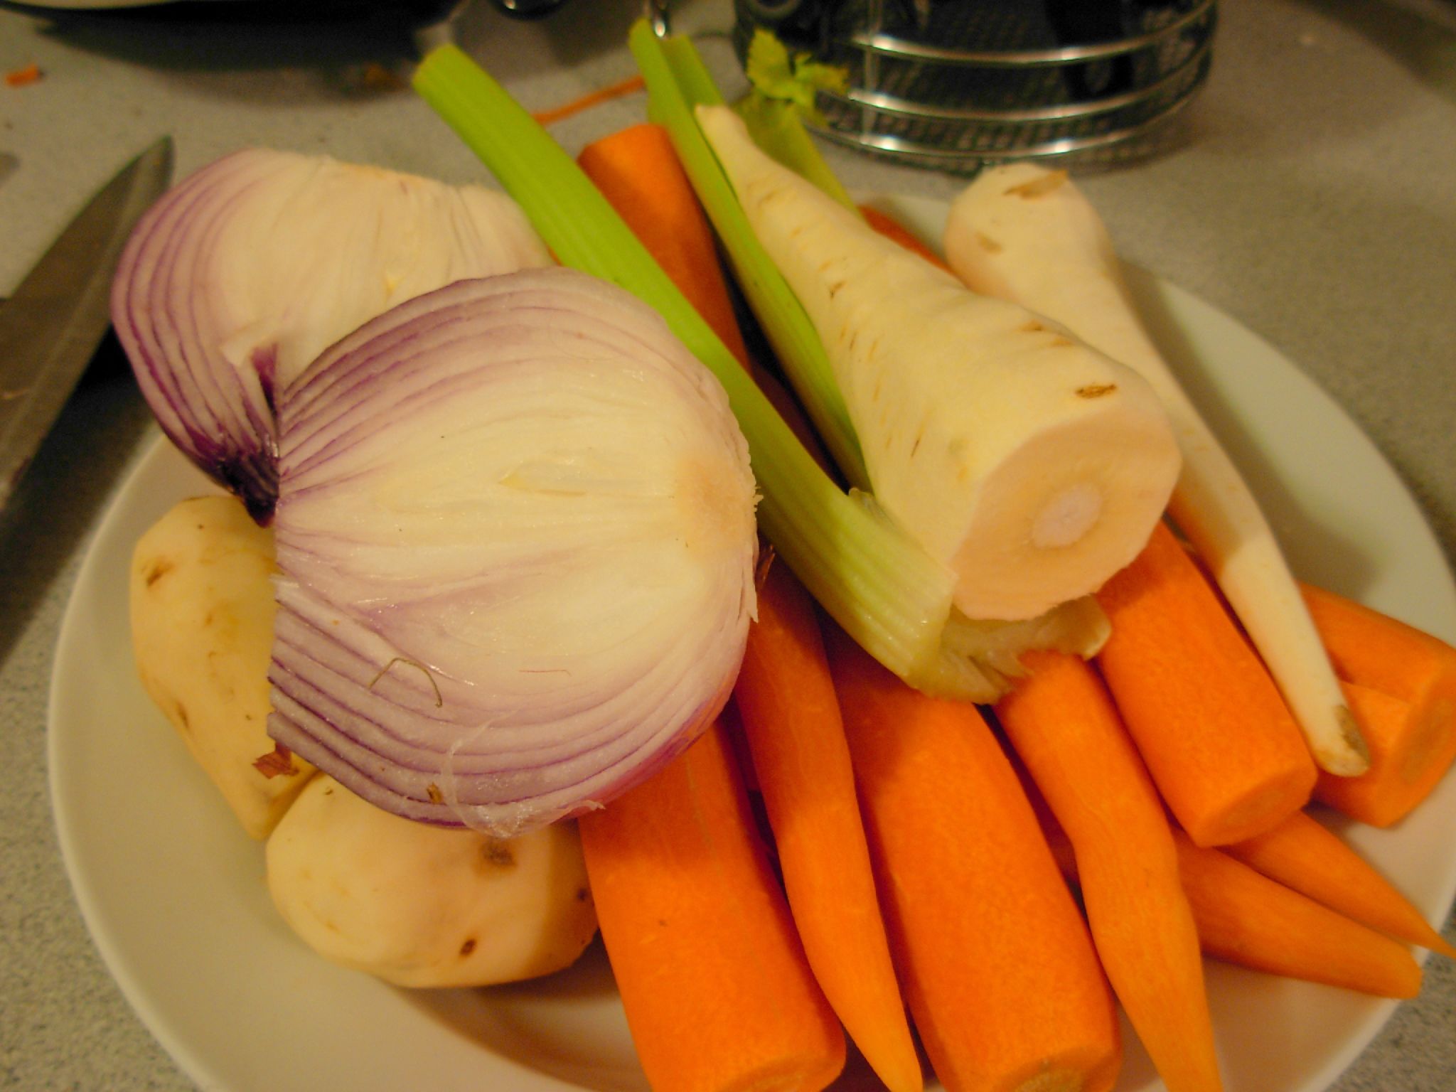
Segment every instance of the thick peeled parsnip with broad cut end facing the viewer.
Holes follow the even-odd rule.
[[[875,499],[954,571],[955,606],[1028,619],[1128,563],[1178,475],[1152,387],[884,239],[729,109],[697,118],[824,344]]]

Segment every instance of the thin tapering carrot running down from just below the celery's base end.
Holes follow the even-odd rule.
[[[1163,802],[1080,657],[1028,652],[996,716],[1072,839],[1098,957],[1169,1092],[1223,1086]]]

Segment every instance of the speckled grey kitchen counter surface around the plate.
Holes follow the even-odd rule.
[[[249,4],[45,13],[0,4],[0,294],[131,154],[170,132],[178,172],[248,143],[451,181],[469,153],[408,90],[396,16],[280,26]],[[571,0],[545,23],[466,12],[463,44],[529,108],[628,76],[635,3]],[[678,6],[677,29],[728,25]],[[734,79],[721,39],[705,50]],[[371,68],[370,66],[379,66]],[[626,99],[558,127],[569,149],[639,119]],[[960,182],[830,150],[853,186],[946,198]],[[1224,0],[1213,79],[1159,157],[1088,175],[1127,258],[1297,361],[1370,435],[1456,558],[1456,7],[1443,0]],[[103,347],[0,517],[0,1088],[192,1085],[128,1009],[63,869],[45,766],[60,617],[147,414]],[[1456,839],[1453,839],[1456,852]],[[1456,927],[1446,922],[1446,936]],[[1456,970],[1431,961],[1335,1085],[1456,1088]],[[237,1091],[245,1092],[245,1091]],[[252,1091],[246,1091],[252,1092]]]

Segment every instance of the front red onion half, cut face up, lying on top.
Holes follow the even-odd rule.
[[[462,281],[278,392],[269,731],[376,805],[517,834],[716,716],[754,609],[718,381],[569,269]]]

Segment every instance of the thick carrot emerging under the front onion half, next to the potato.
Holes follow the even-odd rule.
[[[581,817],[601,939],[654,1092],[817,1092],[844,1035],[721,727]]]

